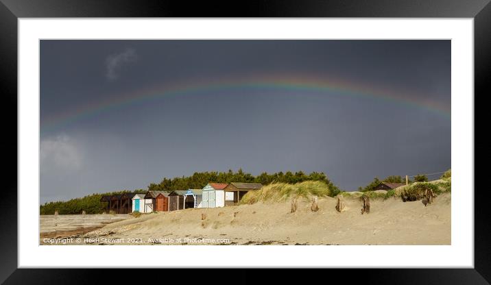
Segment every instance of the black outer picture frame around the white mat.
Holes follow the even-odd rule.
[[[0,282],[5,284],[99,284],[132,282],[133,271],[121,269],[106,274],[104,269],[17,269],[17,19],[50,17],[440,17],[474,18],[475,97],[483,101],[489,94],[491,75],[490,0],[415,1],[415,0],[276,0],[276,1],[135,1],[135,0],[0,0],[0,94],[4,170],[7,187],[0,199]],[[475,106],[479,106],[476,105]],[[481,106],[482,107],[482,106]],[[475,116],[479,123],[479,117]],[[474,137],[475,141],[475,137]],[[479,160],[486,159],[479,156]],[[480,172],[479,172],[480,173]],[[475,175],[479,177],[479,175]],[[4,184],[5,185],[5,184]],[[476,184],[477,185],[477,184]],[[489,284],[491,280],[491,225],[488,223],[488,192],[475,191],[475,267],[474,269],[337,269],[318,275],[325,282],[363,284]],[[422,257],[424,258],[424,257]],[[110,264],[108,264],[110,265]],[[158,269],[169,270],[169,269]],[[174,269],[176,270],[176,269]],[[155,272],[155,271],[153,271]],[[179,271],[176,276],[187,273]],[[241,283],[256,282],[259,275],[235,269],[230,274]],[[315,277],[315,273],[313,274]],[[331,276],[333,276],[331,278]],[[281,279],[305,282],[296,273],[261,274],[261,283]],[[268,280],[270,279],[270,280]],[[104,281],[108,280],[108,281]],[[227,279],[224,279],[224,282]],[[309,280],[309,275],[307,275]],[[178,282],[178,280],[176,280]],[[203,282],[200,282],[203,283]],[[208,282],[204,282],[208,283]],[[213,280],[216,283],[216,280]]]

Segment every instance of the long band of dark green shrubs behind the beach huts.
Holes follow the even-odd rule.
[[[309,175],[298,171],[292,173],[287,171],[286,173],[278,172],[273,174],[261,173],[261,175],[254,176],[250,173],[244,173],[241,169],[237,172],[229,170],[228,172],[202,172],[194,173],[189,177],[176,177],[172,179],[164,178],[160,184],[150,184],[147,190],[186,190],[189,188],[200,189],[206,186],[208,182],[216,183],[230,183],[230,182],[256,182],[263,185],[272,183],[284,183],[284,184],[296,184],[306,181],[316,181],[324,183],[330,193],[337,195],[341,192],[337,186],[335,186],[324,173],[312,172]],[[40,214],[54,214],[58,210],[58,214],[81,214],[82,210],[85,210],[86,214],[100,214],[106,210],[106,203],[101,202],[100,199],[105,195],[115,195],[121,193],[146,193],[147,190],[139,189],[134,191],[121,190],[111,193],[101,193],[88,195],[82,198],[75,198],[69,201],[56,201],[45,203],[40,206]]]

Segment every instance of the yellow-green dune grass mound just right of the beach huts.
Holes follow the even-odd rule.
[[[260,190],[249,191],[241,199],[243,204],[252,204],[259,201],[286,201],[290,197],[303,197],[311,199],[314,196],[331,196],[332,191],[325,182],[305,181],[297,184],[272,183],[263,186]]]

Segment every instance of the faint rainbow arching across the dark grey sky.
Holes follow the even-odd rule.
[[[261,77],[241,77],[217,79],[197,79],[192,82],[176,83],[172,86],[154,86],[136,92],[109,96],[108,98],[65,110],[56,116],[43,120],[44,129],[55,129],[91,116],[97,116],[111,110],[131,106],[139,101],[152,101],[169,96],[195,94],[197,92],[217,92],[223,90],[285,90],[302,92],[302,96],[309,94],[328,93],[329,96],[348,96],[355,98],[369,98],[389,101],[394,104],[403,104],[411,108],[418,108],[433,112],[445,119],[451,118],[448,106],[437,101],[421,99],[411,96],[410,93],[396,90],[387,90],[381,87],[363,86],[355,82],[346,82],[333,77],[315,77],[305,75],[266,75]]]

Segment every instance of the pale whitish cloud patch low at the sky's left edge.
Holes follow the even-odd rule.
[[[82,166],[82,153],[73,138],[59,135],[40,142],[40,170],[71,171]]]

